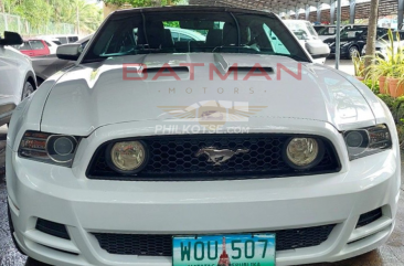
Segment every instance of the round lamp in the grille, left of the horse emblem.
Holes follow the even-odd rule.
[[[147,162],[148,152],[142,141],[123,141],[109,145],[107,162],[110,168],[123,173],[139,172]]]

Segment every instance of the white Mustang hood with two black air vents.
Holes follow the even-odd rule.
[[[178,76],[168,76],[170,72],[166,71],[161,73],[166,76],[156,78],[166,63]],[[194,67],[192,78],[192,72],[181,66],[184,63],[203,66]],[[147,78],[141,77],[136,64],[147,66]],[[215,70],[222,75],[234,71],[231,66],[235,64],[236,81],[233,74],[225,81],[216,74]],[[248,75],[256,64],[268,76]],[[329,123],[339,130],[373,125],[372,110],[353,84],[354,78],[327,66],[298,63],[286,56],[211,53],[120,56],[67,71],[50,92],[41,130],[87,136],[110,124],[181,119],[178,113],[192,113],[192,106],[212,102],[233,110],[234,106],[247,106],[247,110],[241,108],[244,116],[258,117],[263,123],[270,118],[309,119]]]

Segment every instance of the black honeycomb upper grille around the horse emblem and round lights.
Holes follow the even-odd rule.
[[[339,160],[329,140],[320,139],[325,146],[321,161],[308,169],[296,170],[283,159],[285,143],[293,135],[187,135],[187,136],[155,136],[141,140],[149,150],[147,166],[137,174],[123,174],[114,171],[107,163],[107,142],[102,145],[94,155],[88,167],[89,179],[117,180],[223,180],[278,178],[287,175],[318,174],[337,172]],[[128,140],[128,139],[126,139]],[[130,140],[139,140],[134,138]],[[115,140],[118,141],[118,140]],[[121,140],[120,140],[121,141]],[[206,147],[216,149],[248,150],[237,153],[220,166],[209,162],[209,157],[195,153]]]

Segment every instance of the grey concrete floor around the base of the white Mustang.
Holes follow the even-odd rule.
[[[345,64],[343,64],[345,63]],[[332,64],[329,61],[327,64]],[[350,65],[342,62],[343,71],[349,72]],[[34,259],[19,254],[10,238],[7,217],[7,191],[4,183],[4,147],[7,127],[0,127],[0,266],[45,266]],[[402,169],[404,172],[404,162]],[[402,190],[404,191],[404,175],[402,175]],[[400,208],[396,225],[390,240],[376,251],[359,257],[334,264],[316,264],[312,266],[401,266],[404,265],[404,193],[400,196]],[[57,265],[56,265],[57,266]]]

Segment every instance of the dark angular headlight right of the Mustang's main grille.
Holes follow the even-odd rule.
[[[349,130],[343,134],[349,159],[354,160],[392,148],[392,139],[385,125]]]

